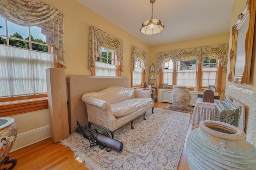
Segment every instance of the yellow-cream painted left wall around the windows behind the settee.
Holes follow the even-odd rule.
[[[121,76],[128,77],[129,86],[131,86],[130,58],[132,45],[143,49],[149,54],[150,47],[148,45],[76,0],[42,1],[64,12],[64,43],[67,65],[65,75],[91,75],[88,64],[88,37],[89,26],[93,25],[122,39],[124,47],[124,71],[121,73]],[[20,133],[23,135],[23,133],[26,132],[31,133],[34,129],[50,124],[48,109],[10,117],[13,117],[18,125],[18,135]],[[15,145],[18,145],[18,140],[17,143],[14,144],[14,149],[16,149]]]

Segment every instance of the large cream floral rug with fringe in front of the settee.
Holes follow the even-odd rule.
[[[182,154],[190,114],[154,108],[154,113],[146,112],[134,119],[134,129],[130,123],[116,130],[114,136],[122,141],[124,149],[121,153],[98,146],[89,147],[89,141],[78,133],[62,140],[62,145],[70,147],[74,156],[85,167],[93,170],[102,169],[143,169],[143,170],[176,170]],[[99,133],[104,129],[92,125]]]

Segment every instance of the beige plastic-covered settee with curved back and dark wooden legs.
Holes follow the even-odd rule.
[[[98,92],[86,93],[82,101],[86,104],[88,127],[91,123],[108,129],[114,139],[116,129],[154,109],[151,90],[110,86]]]

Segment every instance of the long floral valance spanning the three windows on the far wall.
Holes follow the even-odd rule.
[[[209,57],[210,59],[219,59],[223,67],[222,71],[226,72],[228,64],[228,44],[211,45],[192,49],[157,53],[156,72],[159,74],[159,70],[161,69],[162,64],[170,60],[174,62],[178,61],[178,59],[189,61],[194,57],[197,57],[200,62],[203,62],[206,57]]]

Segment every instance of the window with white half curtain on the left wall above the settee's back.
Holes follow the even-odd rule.
[[[96,76],[116,76],[117,66],[115,52],[107,51],[103,47],[100,51],[100,57],[95,62]]]

